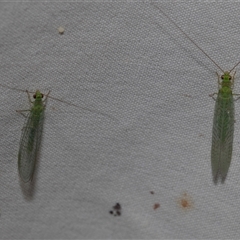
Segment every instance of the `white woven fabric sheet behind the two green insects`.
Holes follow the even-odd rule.
[[[224,70],[240,60],[240,3],[155,4]],[[17,171],[25,120],[15,111],[29,108],[27,94],[0,86],[2,239],[239,238],[240,103],[232,164],[215,185],[209,94],[219,69],[156,8],[2,2],[0,33],[0,83],[91,109],[48,99],[30,192]],[[120,217],[109,214],[116,202]]]

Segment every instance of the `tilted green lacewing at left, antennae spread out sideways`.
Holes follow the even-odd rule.
[[[27,90],[24,91],[22,89],[9,87],[4,84],[0,84],[0,86],[6,87],[12,90],[16,90],[16,91],[27,92],[28,99],[31,104],[30,109],[17,111],[20,113],[26,112],[26,111],[29,112],[27,115],[27,119],[24,124],[24,127],[22,129],[22,136],[21,136],[19,151],[18,151],[18,172],[19,172],[20,178],[25,183],[31,181],[33,178],[35,164],[36,164],[40,143],[41,143],[42,131],[43,131],[44,110],[46,107],[46,104],[44,103],[46,102],[47,98],[52,98],[54,100],[66,103],[68,105],[72,105],[74,107],[84,109],[86,111],[96,112],[98,114],[102,114],[104,116],[112,118],[108,114],[101,113],[96,110],[91,110],[85,107],[79,107],[70,102],[63,101],[63,100],[54,98],[52,96],[49,96],[50,91],[46,95],[44,95],[39,90],[36,90],[35,94],[33,95],[33,98],[35,100],[31,101],[30,94]]]

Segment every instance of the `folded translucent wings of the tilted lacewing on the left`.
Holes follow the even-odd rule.
[[[32,110],[22,130],[18,152],[18,171],[23,182],[32,180],[35,163],[41,143],[44,110],[34,113]]]

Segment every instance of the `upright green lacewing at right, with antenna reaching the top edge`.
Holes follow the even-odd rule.
[[[224,71],[222,68],[193,41],[160,7],[150,2],[152,6],[158,9],[189,41],[192,42],[212,63],[223,73],[218,74],[218,92],[210,96],[217,95],[215,100],[215,110],[212,128],[212,147],[211,147],[211,165],[213,181],[218,179],[222,182],[226,179],[228,169],[232,159],[233,133],[234,133],[234,99],[232,90],[234,87],[234,72],[240,61],[230,70]],[[221,80],[220,80],[221,79]]]

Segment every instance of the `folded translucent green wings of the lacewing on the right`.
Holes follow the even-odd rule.
[[[212,174],[217,180],[225,180],[232,158],[234,132],[234,101],[232,94],[228,99],[219,94],[215,104],[212,130]]]

